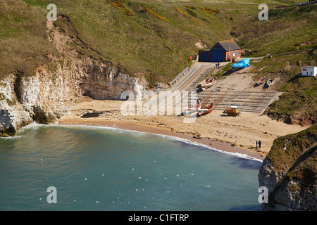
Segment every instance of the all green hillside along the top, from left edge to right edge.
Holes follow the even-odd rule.
[[[167,83],[190,65],[189,56],[199,51],[197,41],[211,48],[217,41],[229,39],[230,31],[240,46],[252,50],[252,56],[316,46],[316,7],[272,9],[269,21],[256,20],[259,4],[273,8],[291,1],[126,0],[123,5],[133,13],[128,16],[106,0],[0,0],[0,79],[15,70],[32,75],[37,65],[54,67],[46,56],[61,53],[47,39],[46,6],[51,3],[75,27],[68,29],[64,20],[56,21],[64,32],[82,41],[72,46],[82,56],[111,62],[129,75],[147,77],[150,84]],[[143,4],[169,22],[144,10]],[[220,13],[206,13],[199,7],[216,8]]]

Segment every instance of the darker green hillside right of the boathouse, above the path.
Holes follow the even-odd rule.
[[[259,21],[255,15],[249,18],[249,23],[237,27],[239,44],[252,50],[249,56],[316,47],[316,18],[316,5],[270,9],[268,21]],[[306,41],[310,44],[300,48],[296,46]]]

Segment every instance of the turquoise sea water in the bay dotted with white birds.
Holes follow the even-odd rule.
[[[31,124],[0,139],[0,210],[261,210],[260,166],[167,136]]]

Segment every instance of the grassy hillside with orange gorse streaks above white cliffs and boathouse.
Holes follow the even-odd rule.
[[[271,8],[290,4],[274,0],[0,0],[0,78],[13,70],[31,75],[36,65],[49,63],[47,55],[60,54],[46,34],[46,6],[52,3],[58,15],[70,18],[76,35],[99,58],[130,75],[146,77],[150,84],[173,79],[190,64],[189,56],[229,39],[230,30],[233,35],[240,29],[249,35],[247,27],[257,22],[247,18],[259,13],[259,4]],[[245,23],[249,25],[242,26]],[[261,52],[254,46],[256,40],[235,39]]]

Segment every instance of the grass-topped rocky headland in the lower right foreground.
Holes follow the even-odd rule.
[[[259,172],[269,193],[263,210],[317,210],[316,142],[317,125],[274,141]]]

